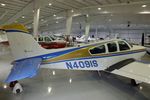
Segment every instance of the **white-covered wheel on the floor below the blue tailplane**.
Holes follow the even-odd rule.
[[[21,84],[18,81],[10,82],[9,87],[14,94],[21,93],[23,91]]]

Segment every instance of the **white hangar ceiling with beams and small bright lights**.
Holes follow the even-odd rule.
[[[67,11],[74,15],[73,24],[84,23],[88,15],[95,25],[150,25],[149,0],[0,0],[0,24],[22,23],[32,28],[36,2],[40,2],[41,30],[64,26]]]

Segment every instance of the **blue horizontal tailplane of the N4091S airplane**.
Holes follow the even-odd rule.
[[[41,64],[41,58],[31,58],[15,62],[5,82],[31,78],[37,74]]]

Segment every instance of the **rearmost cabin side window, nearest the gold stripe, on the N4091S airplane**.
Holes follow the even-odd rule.
[[[97,46],[90,50],[91,54],[99,54],[99,53],[105,53],[105,52],[106,52],[106,49],[104,45]]]

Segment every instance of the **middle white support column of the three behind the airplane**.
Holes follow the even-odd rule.
[[[67,11],[67,20],[66,20],[66,36],[71,34],[72,27],[72,14],[71,11]]]

